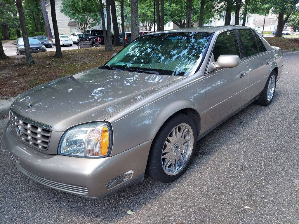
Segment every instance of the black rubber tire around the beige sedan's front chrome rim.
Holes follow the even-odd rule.
[[[167,139],[168,135],[173,130],[173,128],[175,128],[177,125],[181,123],[188,124],[193,131],[193,148],[190,157],[186,162],[186,165],[184,165],[184,167],[182,168],[182,170],[179,171],[178,174],[168,175],[166,174],[166,172],[164,172],[164,169],[162,167],[161,154],[165,144],[165,140]],[[155,139],[152,142],[149,151],[149,158],[147,161],[147,174],[153,179],[156,179],[161,182],[172,182],[178,179],[186,171],[186,169],[188,168],[188,166],[192,161],[194,152],[196,150],[196,137],[197,137],[196,126],[193,120],[189,116],[187,116],[184,113],[177,113],[173,115],[170,119],[168,119],[164,123],[164,125],[158,131],[157,135],[155,136]]]

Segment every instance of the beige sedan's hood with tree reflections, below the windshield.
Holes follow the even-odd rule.
[[[184,77],[93,68],[24,92],[11,110],[50,125],[53,131],[65,131],[77,124],[103,121],[181,79]]]

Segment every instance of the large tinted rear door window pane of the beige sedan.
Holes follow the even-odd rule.
[[[238,32],[240,34],[241,41],[243,44],[245,57],[249,57],[259,53],[257,42],[255,41],[255,38],[251,30],[242,29],[238,30]]]

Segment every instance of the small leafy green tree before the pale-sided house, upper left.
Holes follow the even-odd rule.
[[[101,21],[98,7],[94,7],[97,4],[95,0],[62,0],[60,11],[77,22],[84,32]]]

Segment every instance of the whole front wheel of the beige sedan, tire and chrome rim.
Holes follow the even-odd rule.
[[[184,113],[172,116],[158,131],[149,153],[150,177],[172,182],[190,165],[196,149],[196,126]]]

